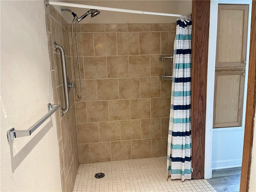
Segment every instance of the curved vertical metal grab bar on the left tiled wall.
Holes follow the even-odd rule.
[[[62,116],[68,112],[69,110],[69,96],[68,96],[68,80],[67,80],[67,71],[66,71],[66,62],[65,62],[65,53],[62,46],[58,45],[54,42],[55,50],[60,50],[60,57],[61,57],[61,65],[62,65],[62,77],[63,77],[63,86],[64,86],[64,95],[65,95],[65,108],[61,108]]]

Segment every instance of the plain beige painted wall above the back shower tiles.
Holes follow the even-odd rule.
[[[81,0],[68,0],[65,2],[86,4],[102,7],[122,8],[131,10],[141,10],[149,12],[162,12],[172,14],[190,14],[192,12],[192,0],[124,0],[124,1],[111,1],[111,0],[92,0],[92,1],[81,1]],[[64,8],[64,7],[63,7]],[[67,7],[65,7],[67,8]],[[88,11],[88,9],[82,8],[70,8],[75,12],[78,17],[82,16]],[[90,24],[118,24],[118,23],[173,23],[178,18],[169,16],[153,16],[153,15],[142,15],[142,14],[130,14],[120,13],[111,11],[101,11],[100,14],[94,18],[88,16],[80,23]],[[73,16],[70,12],[63,12],[62,16],[68,23],[71,23]]]

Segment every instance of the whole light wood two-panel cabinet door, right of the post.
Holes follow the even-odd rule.
[[[213,128],[242,126],[247,5],[218,5]]]

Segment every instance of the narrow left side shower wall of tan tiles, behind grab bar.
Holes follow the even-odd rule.
[[[72,81],[73,77],[71,68],[68,24],[54,9],[53,6],[47,6],[45,12],[50,64],[52,71],[54,103],[60,104],[61,108],[65,108],[60,52],[56,51],[53,45],[54,42],[57,42],[57,44],[64,48],[67,76],[70,81]],[[79,167],[76,114],[73,90],[70,90],[69,96],[70,110],[64,116],[60,114],[60,110],[56,111],[62,191],[64,192],[73,190],[76,174]]]

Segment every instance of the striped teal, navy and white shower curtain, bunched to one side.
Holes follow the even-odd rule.
[[[191,179],[191,20],[177,20],[167,149],[167,180]]]

